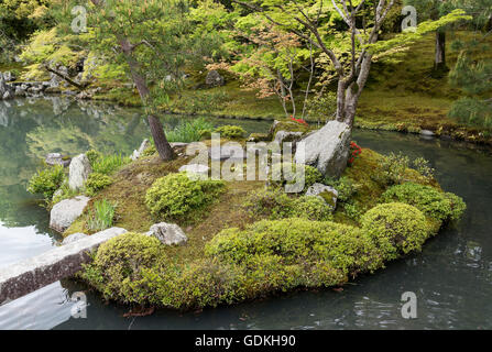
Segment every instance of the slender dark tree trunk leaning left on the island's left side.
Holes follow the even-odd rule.
[[[132,45],[128,40],[123,38],[120,40],[120,46],[127,57],[127,63],[130,66],[133,82],[135,84],[136,89],[139,90],[140,99],[142,100],[144,107],[147,107],[152,97],[150,95],[149,87],[146,86],[145,78],[139,73],[138,70],[139,65],[132,57]],[[152,139],[154,140],[155,148],[158,152],[158,156],[163,161],[173,160],[174,152],[173,148],[171,147],[170,142],[167,142],[166,135],[164,133],[164,128],[162,127],[161,121],[152,113],[147,116],[147,120],[149,125],[151,128]]]

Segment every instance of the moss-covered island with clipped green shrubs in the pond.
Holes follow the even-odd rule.
[[[357,152],[340,178],[305,166],[299,194],[286,194],[282,182],[190,179],[178,172],[192,158],[184,145],[164,163],[152,145],[134,162],[90,151],[92,173],[79,193],[92,198],[64,235],[108,227],[129,232],[102,244],[77,278],[108,300],[140,307],[230,305],[378,275],[460,219],[464,202],[440,188],[425,160],[351,145]],[[31,190],[51,205],[74,197],[65,177],[59,167],[46,168]],[[337,204],[331,194],[307,196],[315,183],[332,187]],[[105,208],[112,209],[109,219]],[[161,221],[178,224],[187,242],[165,245],[147,235]]]

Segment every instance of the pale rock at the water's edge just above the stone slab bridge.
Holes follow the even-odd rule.
[[[88,197],[77,196],[56,204],[50,212],[50,228],[64,232],[81,216],[89,200]]]

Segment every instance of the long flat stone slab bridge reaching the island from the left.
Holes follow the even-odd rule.
[[[111,228],[0,268],[0,305],[74,275],[83,264],[91,261],[88,253],[125,232],[121,228]]]

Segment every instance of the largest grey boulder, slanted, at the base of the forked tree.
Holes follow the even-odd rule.
[[[298,147],[295,154],[297,163],[302,162],[317,167],[324,176],[338,178],[347,167],[350,153],[350,127],[343,122],[329,121],[320,130],[310,133],[302,140],[305,147]]]

